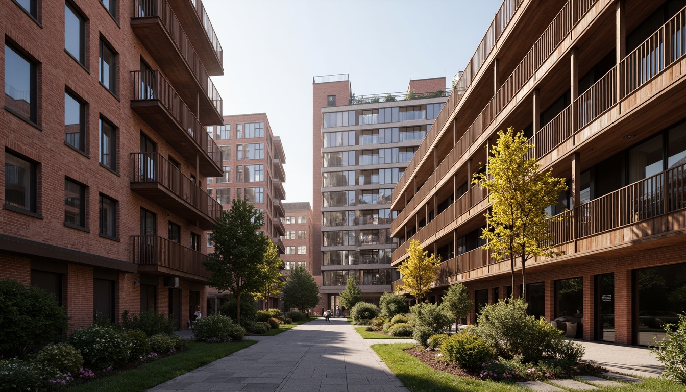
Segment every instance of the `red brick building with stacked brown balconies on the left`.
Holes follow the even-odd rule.
[[[204,308],[206,177],[222,152],[222,47],[202,1],[8,0],[0,7],[0,277],[96,314]],[[64,120],[64,121],[63,121]]]

